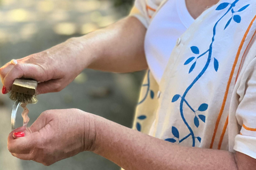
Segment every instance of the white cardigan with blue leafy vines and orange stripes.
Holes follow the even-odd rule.
[[[158,3],[153,21],[167,3]],[[148,72],[134,129],[177,145],[236,150],[256,158],[255,11],[253,0],[222,0],[199,16],[172,50],[159,99]],[[151,19],[145,15],[149,28]],[[151,126],[144,126],[148,120]]]

